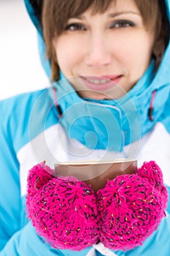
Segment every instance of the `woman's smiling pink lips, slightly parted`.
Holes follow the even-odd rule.
[[[117,85],[122,75],[102,75],[101,77],[85,75],[80,76],[80,78],[89,89],[94,91],[106,91]]]

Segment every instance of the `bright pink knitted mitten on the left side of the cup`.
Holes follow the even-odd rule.
[[[47,165],[34,166],[28,175],[26,206],[37,233],[55,248],[84,249],[98,241],[96,196],[74,177],[55,178]]]

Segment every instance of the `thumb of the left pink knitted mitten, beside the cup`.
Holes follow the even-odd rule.
[[[45,162],[35,165],[29,170],[27,178],[28,195],[36,194],[41,187],[53,178],[50,174],[50,170],[50,167],[45,165]]]

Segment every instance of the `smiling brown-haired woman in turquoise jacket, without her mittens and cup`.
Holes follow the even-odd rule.
[[[129,157],[139,165],[154,159],[169,184],[170,2],[25,2],[45,71],[60,81],[0,103],[1,255],[168,256],[168,213],[136,249],[96,245],[72,252],[42,241],[25,217],[24,196],[27,170],[45,159],[51,167],[82,159]]]

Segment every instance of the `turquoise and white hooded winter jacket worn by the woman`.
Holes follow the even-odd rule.
[[[30,1],[25,0],[25,4],[38,31],[42,65],[50,76],[50,64],[43,58],[45,45],[39,21]],[[166,0],[166,6],[169,16],[170,0]],[[134,89],[109,104],[81,99],[62,74],[61,80],[50,88],[0,102],[3,120],[0,124],[1,256],[170,255],[170,203],[158,230],[142,246],[128,252],[104,252],[100,246],[90,246],[80,252],[53,249],[36,234],[25,211],[28,170],[45,159],[51,167],[55,162],[68,160],[130,157],[138,159],[141,165],[153,159],[161,166],[164,181],[170,185],[169,54],[170,44],[156,75],[152,73],[151,62]],[[55,90],[62,117],[54,104]],[[154,91],[153,120],[150,121],[148,110]]]

